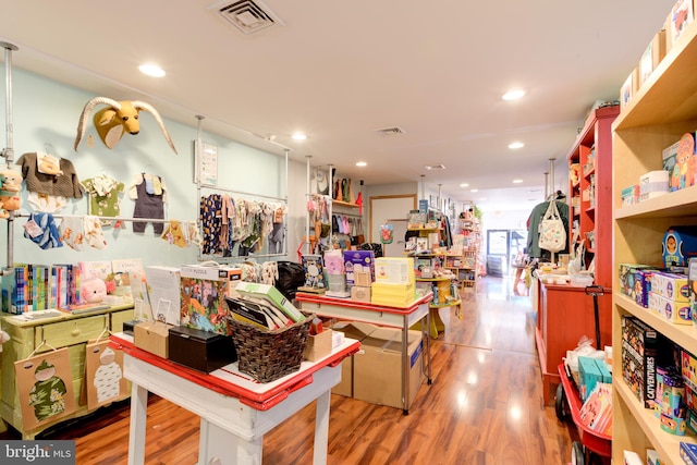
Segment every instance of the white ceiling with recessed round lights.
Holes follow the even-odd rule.
[[[265,0],[279,21],[245,35],[218,13],[233,2],[4,0],[0,40],[19,47],[14,66],[95,95],[193,126],[200,114],[205,131],[288,147],[367,185],[425,175],[443,195],[508,210],[542,199],[550,158],[562,182],[587,111],[617,98],[673,3]],[[140,74],[146,61],[167,77]],[[501,100],[511,87],[526,97]],[[392,126],[406,133],[376,133]],[[433,163],[447,169],[424,168]]]

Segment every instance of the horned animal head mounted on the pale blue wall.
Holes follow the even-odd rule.
[[[155,118],[155,121],[160,125],[162,134],[167,143],[172,147],[174,154],[176,148],[170,137],[170,133],[164,127],[164,122],[160,118],[160,113],[149,103],[140,100],[122,100],[117,101],[108,97],[95,97],[85,103],[83,113],[80,115],[80,122],[77,123],[77,135],[75,136],[75,151],[77,146],[85,135],[85,126],[87,125],[87,119],[91,113],[91,110],[98,105],[107,105],[108,107],[95,113],[94,123],[97,129],[97,134],[102,143],[109,148],[117,146],[121,137],[125,133],[136,135],[140,132],[140,123],[138,121],[138,114],[140,110],[149,111]]]

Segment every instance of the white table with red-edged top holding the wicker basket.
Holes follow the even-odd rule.
[[[145,462],[147,394],[152,392],[200,417],[199,464],[260,464],[264,435],[317,400],[314,463],[327,463],[331,388],[341,362],[360,343],[346,339],[332,353],[306,362],[296,372],[259,383],[227,365],[209,375],[160,358],[133,345],[123,333],[111,345],[124,352],[123,375],[133,383],[129,465]]]

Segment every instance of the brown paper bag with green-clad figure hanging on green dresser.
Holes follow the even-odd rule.
[[[68,348],[14,363],[24,430],[75,412]]]

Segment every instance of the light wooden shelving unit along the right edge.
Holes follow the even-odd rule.
[[[668,30],[668,28],[667,28]],[[662,264],[662,237],[675,224],[697,224],[697,185],[694,174],[685,188],[627,205],[622,201],[622,191],[637,185],[647,172],[663,169],[662,152],[686,134],[697,130],[697,22],[693,21],[672,44],[665,57],[632,91],[631,99],[614,121],[613,159],[616,167],[612,193],[614,206],[614,262]],[[692,155],[694,158],[695,155]],[[689,158],[689,157],[688,157]],[[613,269],[613,280],[619,282],[619,267]],[[613,411],[614,429],[612,457],[622,463],[623,451],[639,455],[647,448],[655,449],[663,463],[683,463],[680,442],[696,442],[694,436],[674,436],[661,428],[652,409],[632,391],[623,377],[620,351],[623,342],[620,322],[634,317],[681,347],[681,356],[697,354],[697,338],[690,326],[674,325],[655,311],[638,305],[635,299],[613,292],[612,342],[613,357]],[[684,358],[683,358],[684,359]],[[683,372],[685,378],[685,372]],[[688,384],[689,377],[685,380]]]

